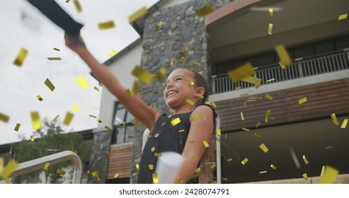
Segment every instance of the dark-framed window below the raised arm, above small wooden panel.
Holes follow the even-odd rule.
[[[124,105],[115,102],[111,144],[132,141],[132,137],[135,134],[135,124],[132,123],[133,119],[135,117],[125,109]]]

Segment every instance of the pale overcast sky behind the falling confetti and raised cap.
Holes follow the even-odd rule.
[[[84,24],[81,35],[98,61],[105,62],[113,50],[120,52],[139,35],[128,23],[128,16],[142,6],[149,8],[158,0],[84,0],[79,1],[82,12],[77,13],[71,0],[56,0],[76,21]],[[30,112],[38,111],[40,119],[52,120],[59,115],[62,122],[67,111],[79,105],[67,129],[80,131],[97,127],[88,115],[99,115],[102,88],[89,75],[90,69],[64,45],[64,32],[50,22],[40,11],[25,0],[4,1],[0,6],[0,113],[10,120],[0,120],[0,144],[19,141],[18,134],[30,139],[33,127]],[[113,20],[116,27],[99,30],[98,23]],[[13,64],[21,48],[28,55],[21,67]],[[60,52],[53,50],[58,48]],[[47,57],[61,57],[62,61],[49,61]],[[76,83],[83,76],[88,89]],[[55,85],[50,91],[44,81],[49,78]],[[100,91],[96,91],[96,86]],[[42,97],[42,101],[36,98]],[[14,131],[16,124],[21,127]]]

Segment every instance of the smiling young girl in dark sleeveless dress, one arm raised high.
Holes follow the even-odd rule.
[[[212,163],[215,162],[215,118],[217,114],[205,105],[208,86],[200,74],[189,69],[175,69],[168,76],[164,89],[166,105],[173,115],[157,112],[136,96],[129,96],[118,79],[88,51],[81,37],[65,35],[67,47],[79,54],[93,74],[118,98],[125,108],[150,130],[151,137],[144,146],[137,183],[152,183],[156,170],[154,153],[175,151],[185,158],[173,183],[212,182]],[[190,83],[194,82],[193,86]],[[191,105],[186,100],[194,102]],[[171,123],[179,118],[178,124]],[[204,141],[209,144],[205,146]],[[151,165],[153,168],[151,168]],[[193,176],[198,173],[198,177]]]

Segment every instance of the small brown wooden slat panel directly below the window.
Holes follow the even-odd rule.
[[[132,165],[132,144],[110,148],[110,158],[108,163],[108,180],[114,179],[114,175],[119,173],[118,178],[130,177]]]

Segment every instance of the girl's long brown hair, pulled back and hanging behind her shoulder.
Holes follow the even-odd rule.
[[[207,84],[206,79],[199,74],[196,71],[187,69],[188,71],[191,71],[193,73],[194,78],[194,86],[199,86],[205,89],[205,93],[203,98],[200,98],[201,100],[198,101],[196,106],[205,104],[208,98],[208,95],[210,95],[210,89]],[[214,117],[215,119],[215,117]],[[214,180],[213,177],[213,170],[214,168],[211,168],[212,163],[216,163],[216,121],[214,121],[214,126],[212,129],[212,136],[209,140],[207,140],[208,146],[204,153],[202,154],[201,160],[200,160],[200,172],[199,172],[199,182],[202,184],[210,183]]]

